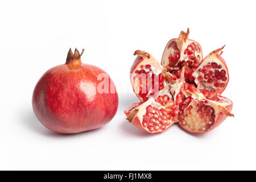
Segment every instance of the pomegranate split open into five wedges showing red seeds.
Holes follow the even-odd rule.
[[[233,116],[232,101],[220,96],[229,81],[220,56],[224,47],[203,59],[201,46],[188,35],[189,29],[181,31],[167,43],[161,64],[147,52],[134,53],[130,80],[141,102],[125,114],[142,130],[159,133],[177,122],[192,133],[205,133]]]

